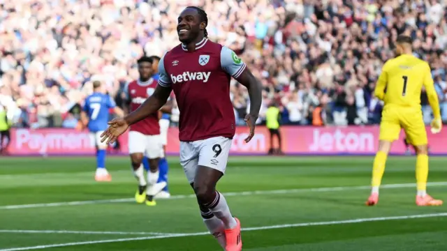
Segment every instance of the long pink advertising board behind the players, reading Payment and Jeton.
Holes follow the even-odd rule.
[[[248,128],[236,130],[230,153],[234,155],[258,155],[268,152],[270,147],[269,132],[265,127],[257,127],[256,135],[248,144],[244,142]],[[427,130],[430,152],[447,155],[447,130],[432,135]],[[286,126],[281,128],[283,149],[286,154],[299,155],[371,155],[377,149],[379,138],[378,126],[365,127],[302,127]],[[94,154],[94,142],[89,132],[74,129],[13,129],[12,142],[9,147],[11,155],[90,155]],[[400,138],[403,139],[404,132]],[[128,152],[128,134],[119,138],[122,153]],[[404,153],[402,140],[395,142],[391,150],[394,154]],[[179,153],[178,129],[170,128],[166,152],[170,155]]]

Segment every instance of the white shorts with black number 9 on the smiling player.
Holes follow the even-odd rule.
[[[180,165],[189,183],[196,178],[198,166],[210,167],[225,174],[231,139],[212,137],[195,142],[180,142]]]

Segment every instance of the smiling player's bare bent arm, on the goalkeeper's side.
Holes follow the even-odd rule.
[[[254,77],[249,68],[245,68],[244,72],[237,78],[242,85],[247,87],[249,90],[250,97],[250,112],[245,116],[245,121],[247,122],[250,128],[250,135],[245,139],[245,142],[249,142],[251,138],[254,136],[254,128],[256,120],[259,116],[259,110],[261,109],[262,103],[262,86],[261,82]]]

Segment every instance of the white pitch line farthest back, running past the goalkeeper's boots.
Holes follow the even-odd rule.
[[[429,186],[442,186],[447,185],[447,182],[431,182],[427,183]],[[416,183],[401,183],[401,184],[388,184],[381,185],[381,188],[416,188]],[[369,185],[360,186],[344,186],[344,187],[332,187],[332,188],[298,188],[298,189],[286,189],[286,190],[260,190],[260,191],[245,191],[245,192],[224,192],[225,196],[248,196],[248,195],[284,195],[298,192],[336,192],[344,190],[367,190],[371,187]],[[185,199],[195,198],[196,195],[173,195],[169,199]],[[134,201],[133,198],[124,199],[96,199],[88,201],[66,201],[66,202],[53,202],[53,203],[40,203],[40,204],[22,204],[22,205],[8,205],[0,206],[0,210],[7,209],[24,209],[24,208],[40,208],[51,206],[79,206],[88,204],[105,204],[105,203],[123,203]]]

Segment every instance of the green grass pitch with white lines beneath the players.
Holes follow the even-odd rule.
[[[221,250],[169,158],[172,199],[135,204],[125,157],[108,158],[111,183],[94,181],[94,158],[1,158],[0,251]],[[445,206],[418,207],[414,157],[388,159],[381,198],[365,206],[372,157],[230,157],[226,194],[251,251],[447,250]],[[429,192],[447,200],[447,158],[430,158]]]

